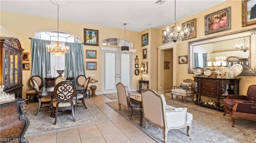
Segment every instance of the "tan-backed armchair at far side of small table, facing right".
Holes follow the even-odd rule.
[[[132,108],[140,108],[140,105],[135,105],[130,102],[129,96],[131,96],[132,93],[128,91],[127,86],[124,86],[124,84],[119,82],[118,84],[116,84],[116,90],[117,90],[117,96],[118,96],[119,110],[121,110],[121,105],[124,106],[127,109],[128,116],[129,116],[130,115],[129,109],[131,109],[131,112],[133,112]]]

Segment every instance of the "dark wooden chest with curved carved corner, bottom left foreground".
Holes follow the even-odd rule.
[[[26,115],[28,110],[25,100],[15,98],[10,102],[0,103],[0,142],[7,143],[18,141],[20,143],[28,143],[24,134],[28,129],[30,119]]]

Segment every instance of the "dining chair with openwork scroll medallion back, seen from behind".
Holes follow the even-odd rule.
[[[73,121],[75,119],[74,105],[76,100],[76,86],[72,82],[61,81],[54,87],[54,98],[52,101],[52,115],[55,117],[54,125],[57,123],[57,117],[60,114],[72,114]]]

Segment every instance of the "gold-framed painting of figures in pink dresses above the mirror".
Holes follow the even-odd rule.
[[[230,29],[230,6],[204,16],[204,35]]]

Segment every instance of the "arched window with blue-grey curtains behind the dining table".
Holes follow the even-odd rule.
[[[44,78],[47,72],[51,71],[51,77],[56,77],[59,75],[56,70],[64,70],[71,71],[73,82],[76,82],[78,75],[85,75],[84,53],[82,43],[78,43],[79,37],[60,32],[58,38],[58,31],[41,31],[35,33],[35,37],[36,39],[32,39],[32,76],[39,75]],[[46,45],[57,41],[69,47],[69,52],[61,57],[50,54],[46,48]],[[64,75],[68,76],[68,72],[64,72]]]

